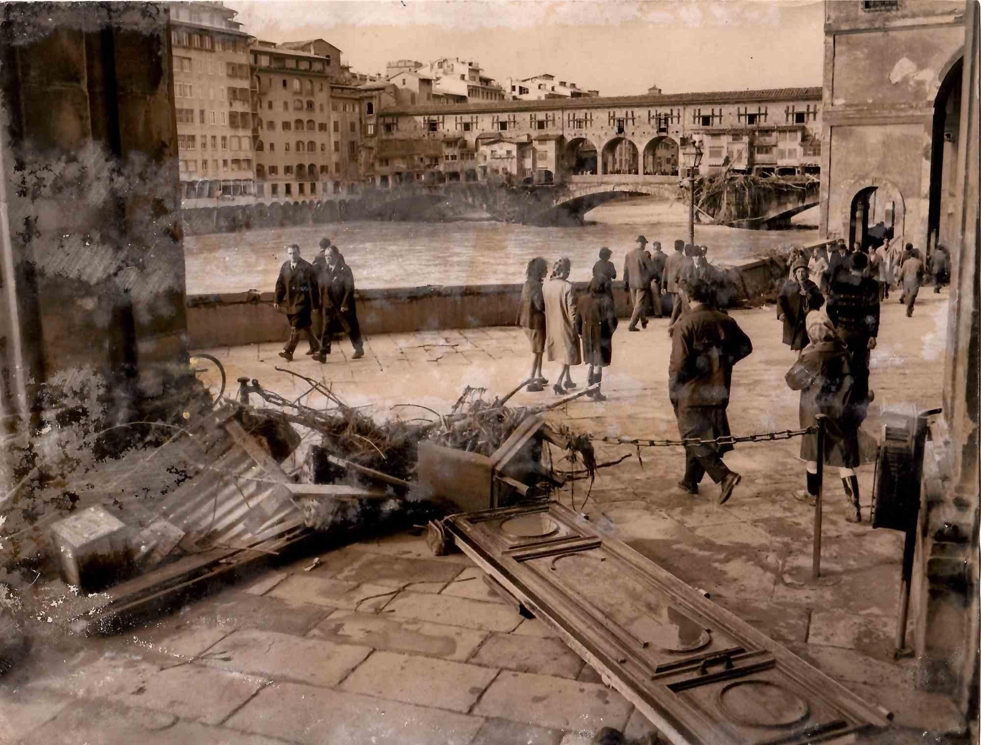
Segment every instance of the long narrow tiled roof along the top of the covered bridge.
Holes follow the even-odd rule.
[[[453,106],[457,113],[466,112],[520,112],[552,109],[602,109],[611,106],[670,106],[672,104],[742,103],[765,101],[821,100],[822,88],[764,88],[761,90],[726,90],[696,93],[644,93],[639,96],[603,96],[584,98],[549,99],[547,101],[483,101]],[[432,106],[408,106],[392,109],[389,113],[421,115],[429,114]],[[444,107],[443,107],[444,108]]]

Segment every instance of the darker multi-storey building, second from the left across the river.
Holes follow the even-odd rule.
[[[316,52],[307,51],[316,49]],[[337,133],[332,80],[340,50],[321,40],[252,45],[256,199],[318,201],[327,193]]]

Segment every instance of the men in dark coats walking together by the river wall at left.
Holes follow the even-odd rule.
[[[364,340],[354,308],[354,274],[340,249],[330,238],[323,238],[312,263],[300,256],[300,247],[295,243],[286,248],[286,257],[276,280],[273,303],[289,321],[289,339],[280,357],[292,361],[302,334],[310,343],[307,354],[318,362],[327,362],[331,341],[341,330],[350,336],[352,359],[364,357]],[[316,312],[320,317],[317,323]]]

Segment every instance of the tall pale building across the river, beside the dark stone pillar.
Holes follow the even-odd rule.
[[[251,204],[251,37],[222,3],[169,9],[182,206]]]

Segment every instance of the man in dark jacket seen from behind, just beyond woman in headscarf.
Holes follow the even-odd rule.
[[[831,285],[825,312],[849,348],[855,396],[872,400],[868,388],[868,360],[879,335],[879,283],[868,276],[865,254],[852,254]]]

